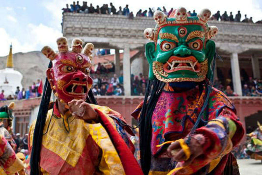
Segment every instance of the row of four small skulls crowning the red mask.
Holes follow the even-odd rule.
[[[72,41],[72,51],[69,51],[67,39],[66,37],[59,37],[57,39],[58,52],[66,53],[66,52],[76,52],[87,55],[90,59],[92,58],[92,51],[94,49],[94,45],[92,43],[87,43],[83,49],[83,41],[81,39],[75,38]],[[50,60],[54,60],[57,58],[58,53],[56,53],[51,47],[44,46],[41,52]]]

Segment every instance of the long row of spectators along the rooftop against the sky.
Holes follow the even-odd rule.
[[[118,10],[113,5],[112,2],[110,4],[103,4],[99,7],[99,5],[96,5],[96,7],[93,6],[92,3],[87,5],[87,1],[83,1],[83,5],[81,6],[79,4],[79,1],[75,2],[73,1],[73,4],[69,5],[66,4],[66,8],[62,8],[63,13],[96,13],[96,14],[112,14],[112,15],[124,15],[129,16],[129,18],[133,18],[134,14],[133,11],[130,12],[128,4],[125,5],[125,7],[122,9],[121,6],[119,6]],[[160,10],[164,12],[167,16],[169,16],[174,8],[171,8],[169,11],[163,6],[162,8],[158,7],[156,10]],[[155,9],[154,8],[148,8],[148,10],[142,10],[140,9],[136,13],[136,17],[152,17],[154,14]],[[195,10],[193,12],[188,11],[188,16],[197,16],[197,13]],[[244,22],[244,23],[254,23],[252,17],[248,18],[247,15],[244,15],[244,19],[241,20],[241,13],[238,10],[235,17],[233,17],[233,12],[230,12],[230,14],[225,11],[222,15],[220,14],[220,11],[217,11],[214,15],[212,15],[211,20],[217,20],[217,21],[235,21],[235,22]],[[256,23],[262,24],[262,20],[257,21]]]

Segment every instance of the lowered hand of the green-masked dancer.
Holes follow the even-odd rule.
[[[187,138],[185,138],[184,140],[186,141]],[[185,167],[191,164],[196,157],[204,153],[203,146],[204,146],[204,136],[202,134],[197,134],[192,136],[190,140],[189,149],[191,154],[189,159],[186,160],[186,155],[178,141],[173,142],[168,147],[167,151],[170,155],[172,155],[173,159],[176,162],[184,161],[182,166]]]

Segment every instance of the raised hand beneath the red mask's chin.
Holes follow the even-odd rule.
[[[84,100],[72,100],[68,103],[70,113],[83,120],[98,120],[98,114]]]

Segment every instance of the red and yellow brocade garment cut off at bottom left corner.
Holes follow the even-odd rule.
[[[0,135],[0,175],[17,175],[24,163],[16,156],[8,141]]]

